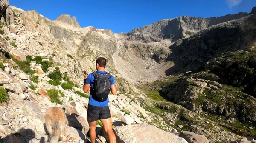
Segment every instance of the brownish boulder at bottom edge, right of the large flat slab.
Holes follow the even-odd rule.
[[[204,135],[198,135],[189,131],[180,132],[179,137],[184,138],[189,143],[210,143]]]

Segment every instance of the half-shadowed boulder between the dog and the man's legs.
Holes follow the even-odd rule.
[[[77,115],[77,114],[71,114],[67,117],[68,126],[72,126],[76,129],[81,130],[82,132],[88,132],[89,130],[89,124],[84,119],[84,117]]]

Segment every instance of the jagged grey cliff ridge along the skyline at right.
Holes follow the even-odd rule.
[[[247,13],[238,13],[210,18],[182,16],[174,19],[160,20],[142,28],[135,28],[128,32],[127,35],[128,40],[139,40],[145,43],[159,42],[163,39],[170,39],[172,42],[175,42],[212,25],[239,19],[247,15]]]

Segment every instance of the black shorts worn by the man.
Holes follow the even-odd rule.
[[[87,110],[87,118],[89,121],[97,121],[100,119],[108,119],[110,118],[110,111],[108,106],[105,107],[97,107],[93,105],[88,105]]]

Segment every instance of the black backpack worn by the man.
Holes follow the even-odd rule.
[[[91,88],[91,91],[90,91],[91,95],[93,95],[93,97],[97,101],[107,100],[108,94],[111,88],[111,80],[110,80],[111,74],[107,73],[103,75],[97,72],[93,72],[93,76],[94,76],[94,84],[93,84],[93,88]]]

